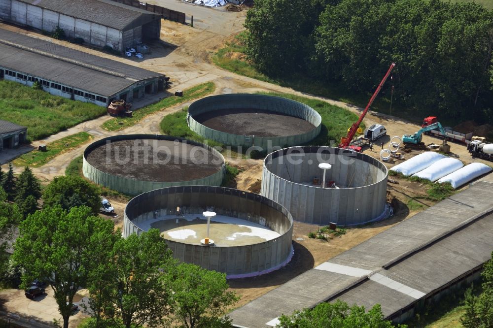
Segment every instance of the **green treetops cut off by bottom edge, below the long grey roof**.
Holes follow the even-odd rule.
[[[281,328],[391,328],[395,327],[388,320],[384,320],[379,304],[368,312],[363,306],[349,306],[337,300],[334,303],[320,303],[313,309],[294,311],[290,316],[279,317]],[[397,327],[405,328],[405,325]]]

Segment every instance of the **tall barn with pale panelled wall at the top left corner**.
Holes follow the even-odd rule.
[[[159,39],[161,16],[110,0],[0,0],[0,18],[123,51]]]

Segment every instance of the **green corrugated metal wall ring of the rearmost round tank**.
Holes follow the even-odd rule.
[[[314,125],[305,133],[287,136],[254,136],[213,130],[197,122],[194,116],[220,109],[263,109],[304,119]],[[266,95],[231,94],[202,98],[188,107],[188,127],[195,133],[228,146],[258,146],[264,150],[276,146],[297,146],[314,139],[319,133],[322,118],[312,107],[301,102]]]

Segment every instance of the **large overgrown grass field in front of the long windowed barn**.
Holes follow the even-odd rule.
[[[0,81],[0,120],[28,128],[28,140],[39,140],[106,113],[92,103],[52,96],[12,81]]]

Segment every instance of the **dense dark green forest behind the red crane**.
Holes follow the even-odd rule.
[[[255,0],[246,55],[262,72],[371,92],[390,63],[400,106],[493,123],[493,11],[441,0]]]

